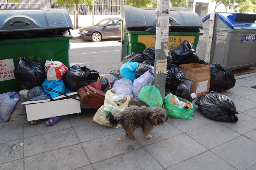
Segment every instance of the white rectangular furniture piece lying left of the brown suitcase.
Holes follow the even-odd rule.
[[[79,99],[74,94],[77,93],[73,92],[67,95]],[[53,99],[26,101],[22,104],[26,104],[27,121],[81,113],[80,101],[62,95]]]

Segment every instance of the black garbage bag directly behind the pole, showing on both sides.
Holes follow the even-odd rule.
[[[151,66],[155,66],[155,47],[147,48],[143,51],[145,60],[148,60],[151,64]],[[173,64],[173,58],[171,57],[171,53],[168,52],[167,55],[167,64],[166,68],[171,67],[171,64]]]

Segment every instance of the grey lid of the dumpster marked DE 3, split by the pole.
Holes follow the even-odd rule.
[[[155,9],[140,9],[131,6],[122,6],[121,19],[124,28],[155,26],[157,14]],[[185,8],[170,8],[170,26],[203,28],[203,22],[197,13]]]

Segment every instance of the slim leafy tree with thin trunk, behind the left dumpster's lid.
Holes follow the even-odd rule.
[[[92,6],[93,0],[56,0],[56,4],[65,5],[67,8],[70,8],[68,4],[75,4],[76,6],[76,26],[75,28],[79,28],[78,25],[78,7],[79,5],[85,5],[87,7]]]

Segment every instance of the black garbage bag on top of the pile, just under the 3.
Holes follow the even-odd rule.
[[[200,61],[193,44],[187,40],[183,41],[177,49],[171,50],[171,56],[173,57],[173,64],[176,66],[180,64],[198,63]]]

